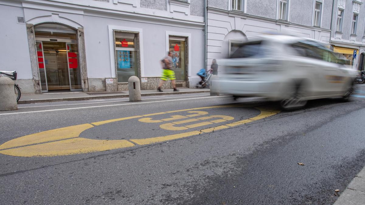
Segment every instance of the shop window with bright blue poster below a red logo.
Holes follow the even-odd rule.
[[[138,34],[115,31],[115,62],[118,82],[138,75]]]

